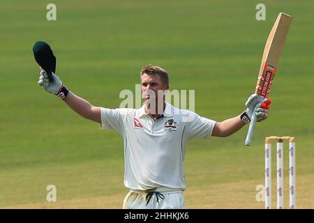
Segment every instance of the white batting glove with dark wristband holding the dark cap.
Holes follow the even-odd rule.
[[[47,72],[43,68],[40,68],[38,84],[45,91],[57,95],[62,100],[68,95],[68,89],[62,85],[61,79],[54,72],[52,72],[52,78],[49,79]]]

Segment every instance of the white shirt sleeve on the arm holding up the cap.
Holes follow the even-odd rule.
[[[114,130],[119,134],[123,134],[125,130],[125,118],[127,109],[107,109],[100,108],[100,129],[101,130]]]

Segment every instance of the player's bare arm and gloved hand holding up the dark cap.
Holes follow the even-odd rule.
[[[66,86],[62,85],[60,78],[52,73],[52,80],[47,78],[45,70],[40,69],[40,77],[38,84],[49,93],[53,93],[61,98],[68,107],[80,116],[87,118],[91,121],[101,123],[100,119],[100,107],[91,105],[87,100],[80,98],[71,91],[66,89]]]

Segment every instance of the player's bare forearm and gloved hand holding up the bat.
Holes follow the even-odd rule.
[[[230,136],[230,134],[237,132],[240,128],[244,127],[246,123],[249,123],[251,121],[253,112],[255,112],[255,116],[257,117],[258,122],[265,120],[268,117],[268,109],[270,103],[271,100],[269,98],[261,99],[256,93],[251,95],[246,101],[246,111],[234,118],[229,118],[220,123],[217,122],[211,135],[213,137]],[[258,107],[257,109],[255,109],[255,105],[257,104]]]

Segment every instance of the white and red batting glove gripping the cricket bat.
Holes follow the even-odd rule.
[[[248,123],[252,119],[253,112],[257,117],[257,122],[263,121],[268,118],[269,105],[271,104],[270,98],[253,93],[246,101],[246,111],[241,115],[241,121]],[[257,106],[256,106],[257,105]]]

